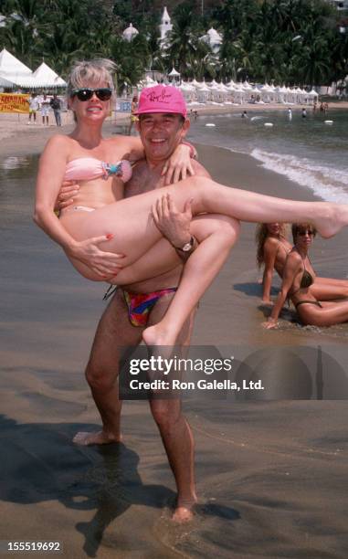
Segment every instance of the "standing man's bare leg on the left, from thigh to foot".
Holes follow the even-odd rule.
[[[119,400],[119,360],[122,346],[138,345],[143,328],[129,322],[123,294],[118,290],[104,311],[95,334],[86,368],[86,378],[102,421],[96,433],[79,432],[73,442],[102,445],[121,440],[121,401]]]

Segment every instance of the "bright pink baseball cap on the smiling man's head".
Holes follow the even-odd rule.
[[[145,88],[140,94],[138,109],[134,114],[150,112],[174,112],[186,118],[187,109],[182,92],[173,86],[164,85]]]

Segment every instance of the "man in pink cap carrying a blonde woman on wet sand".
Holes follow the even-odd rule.
[[[170,107],[169,110],[175,111]],[[181,112],[177,111],[173,121],[173,118],[169,119],[168,113],[142,114],[142,103],[140,104],[137,111],[140,121],[136,126],[140,132],[146,160],[134,166],[132,179],[125,185],[125,197],[164,186],[163,167],[182,139],[181,134],[178,134],[178,127],[185,132],[189,127],[189,121],[183,121]],[[166,142],[155,142],[160,136],[164,136]],[[210,177],[200,163],[193,161],[192,165],[196,176]],[[77,188],[78,186],[74,185],[61,191],[60,200],[69,199]],[[72,200],[68,201],[72,203]],[[64,203],[64,207],[67,207],[67,202]],[[164,206],[163,213],[157,217],[157,227],[176,249],[184,265],[197,246],[195,237],[190,233],[190,204],[185,206],[183,212],[176,211],[174,206]],[[220,231],[221,249],[224,243],[232,248],[237,237],[236,220],[225,216],[215,218],[213,215],[201,216],[201,219],[206,221],[207,227]],[[100,411],[102,430],[97,433],[79,432],[73,439],[75,443],[86,446],[121,440],[121,401],[118,391],[118,367],[123,354],[121,348],[139,345],[145,327],[162,320],[174,297],[174,289],[179,284],[183,265],[178,265],[176,269],[151,280],[139,281],[116,290],[100,319],[86,368],[87,382]],[[153,300],[150,311],[139,320],[139,316],[135,316],[139,310],[137,307],[149,300]],[[177,339],[177,345],[183,349],[190,343],[194,315],[195,311],[185,322]],[[150,400],[150,406],[177,486],[174,520],[185,522],[192,518],[192,509],[196,502],[192,431],[182,413],[180,399],[153,399]]]

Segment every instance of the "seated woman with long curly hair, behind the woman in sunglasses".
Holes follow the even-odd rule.
[[[258,267],[264,264],[262,301],[269,303],[273,270],[283,277],[283,269],[288,254],[292,249],[288,238],[288,227],[281,223],[259,223],[256,231],[258,245]],[[311,295],[318,301],[335,301],[348,298],[348,281],[313,276]]]

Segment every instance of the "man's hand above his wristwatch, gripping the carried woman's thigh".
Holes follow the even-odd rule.
[[[182,248],[191,239],[193,198],[185,202],[184,210],[179,212],[172,197],[167,194],[158,198],[152,207],[153,221],[174,248]]]

